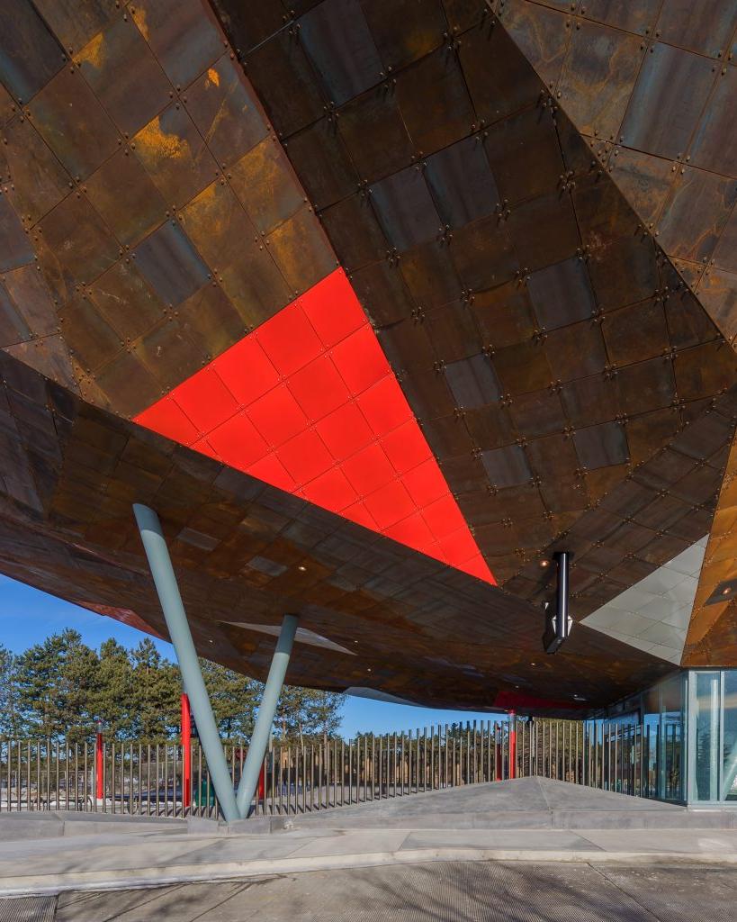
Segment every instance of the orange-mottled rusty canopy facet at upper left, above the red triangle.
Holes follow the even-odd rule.
[[[274,140],[263,156],[272,129],[203,0],[46,7],[0,40],[12,63],[40,29],[32,63],[48,27],[60,53],[23,108],[3,89],[3,269],[35,257],[53,310],[41,322],[34,299],[24,323],[69,330],[23,356],[132,415],[336,261]]]

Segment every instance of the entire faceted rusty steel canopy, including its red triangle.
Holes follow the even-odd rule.
[[[291,681],[563,710],[673,657],[544,658],[541,562],[580,621],[710,535],[682,662],[737,664],[737,4],[6,14],[4,572],[161,630],[146,502],[205,654],[290,606],[360,650]]]

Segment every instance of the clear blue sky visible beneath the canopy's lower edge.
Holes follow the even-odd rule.
[[[135,646],[146,636],[119,621],[80,609],[60,598],[48,596],[38,589],[0,575],[0,643],[14,653],[20,653],[31,644],[38,644],[49,634],[62,631],[65,627],[76,628],[84,642],[94,647],[99,647],[108,637],[114,637],[124,646]],[[152,640],[164,656],[174,659],[170,644],[156,638]],[[437,711],[349,697],[343,710],[342,730],[346,737],[351,737],[360,730],[388,733],[489,717],[493,719],[494,715]]]

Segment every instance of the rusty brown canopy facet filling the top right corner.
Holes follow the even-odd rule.
[[[698,292],[707,278],[705,266],[728,226],[737,190],[732,153],[735,68],[730,63],[737,30],[734,5],[709,0],[696,9],[680,0],[637,5],[597,0],[573,10],[549,7],[537,0],[495,5],[499,21],[544,79],[551,74],[550,55],[545,41],[531,41],[531,23],[539,36],[547,36],[550,47],[555,35],[571,37],[560,76],[548,80],[548,89],[556,105],[588,136],[602,171],[624,191],[681,277]],[[591,20],[601,26],[591,25]],[[602,31],[604,26],[613,28]],[[587,34],[591,41],[584,41]],[[579,47],[585,48],[582,55],[577,54]],[[616,73],[610,72],[614,62]],[[591,112],[602,99],[594,91],[597,80],[607,73],[606,91],[618,89],[621,94],[608,108],[604,126],[592,123]],[[622,100],[626,111],[621,110]],[[729,243],[722,253],[726,249]],[[722,318],[729,316],[730,299],[731,290],[719,286],[703,300],[728,337]]]

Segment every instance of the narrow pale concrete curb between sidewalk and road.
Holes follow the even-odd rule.
[[[228,881],[250,877],[303,874],[316,870],[375,868],[382,865],[426,864],[433,861],[521,861],[527,863],[621,865],[737,866],[737,852],[606,852],[597,849],[413,848],[356,855],[269,858],[196,865],[169,865],[166,870],[72,871],[65,874],[18,875],[0,881],[0,896],[41,896],[64,891],[134,890],[175,883]]]

